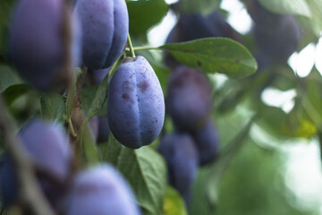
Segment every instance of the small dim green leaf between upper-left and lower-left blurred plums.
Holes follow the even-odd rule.
[[[58,93],[44,93],[40,97],[41,115],[52,121],[64,123],[66,108],[64,99]]]

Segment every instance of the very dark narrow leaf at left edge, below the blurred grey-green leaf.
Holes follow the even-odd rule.
[[[2,95],[5,103],[10,106],[15,99],[18,99],[21,95],[25,94],[31,89],[31,86],[26,83],[14,84],[4,89]]]

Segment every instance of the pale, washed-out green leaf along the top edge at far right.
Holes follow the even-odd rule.
[[[303,15],[311,17],[309,4],[305,0],[258,0],[273,13]],[[311,1],[311,0],[309,0]]]

